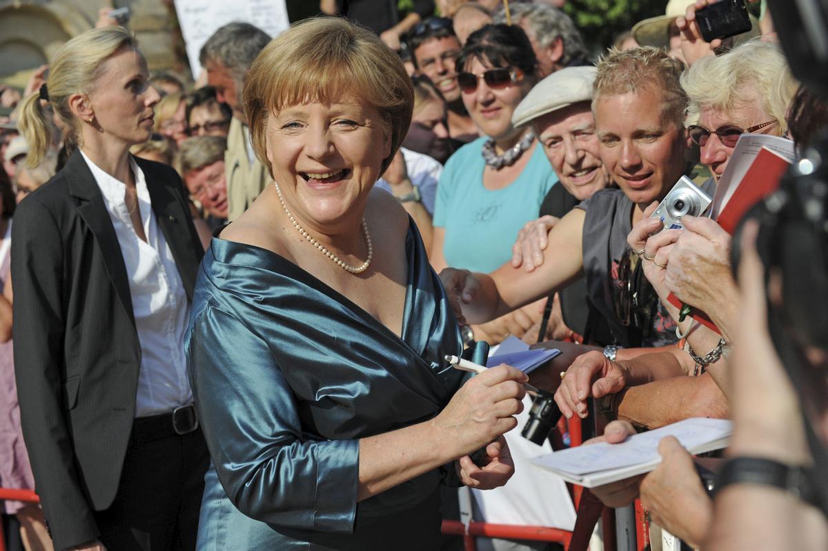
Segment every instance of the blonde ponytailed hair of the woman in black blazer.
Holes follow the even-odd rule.
[[[51,108],[69,133],[71,141],[77,141],[78,127],[69,107],[70,96],[93,92],[103,62],[124,46],[137,50],[137,42],[126,29],[107,26],[75,36],[55,52],[49,64],[46,88]],[[41,104],[39,91],[23,100],[17,125],[29,143],[26,164],[32,167],[40,165],[52,144],[55,128],[51,123],[50,110]]]

